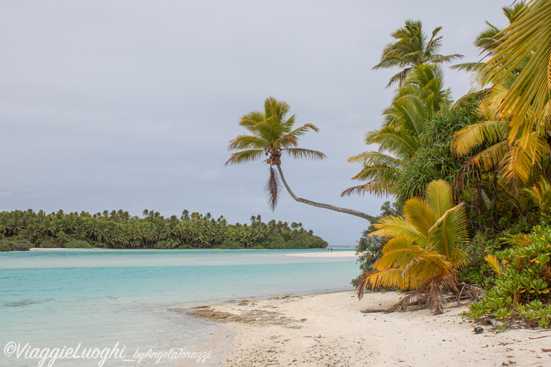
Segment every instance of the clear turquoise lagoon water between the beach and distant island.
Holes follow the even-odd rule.
[[[231,329],[170,308],[351,289],[358,273],[355,258],[289,256],[322,251],[0,253],[0,366],[38,366],[40,359],[6,355],[8,344],[25,351],[27,343],[26,350],[38,348],[35,353],[79,344],[81,351],[114,349],[118,343],[118,356],[125,358],[105,359],[103,366],[216,366],[231,348]],[[171,349],[173,355],[158,363],[147,357],[138,361],[138,353]],[[183,357],[185,352],[211,355],[203,362]],[[100,361],[57,359],[54,366],[99,366]]]

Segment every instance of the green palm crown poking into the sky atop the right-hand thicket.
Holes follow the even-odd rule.
[[[411,68],[416,65],[449,63],[463,57],[459,54],[447,56],[438,54],[442,39],[441,36],[438,36],[438,32],[442,28],[435,28],[428,39],[422,25],[421,21],[408,19],[404,28],[399,28],[391,33],[396,41],[388,43],[384,47],[381,62],[373,67],[373,70],[388,69],[389,67],[402,69],[391,78],[386,87],[390,87],[396,82],[402,86]]]

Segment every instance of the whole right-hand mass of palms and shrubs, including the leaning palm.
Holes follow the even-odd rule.
[[[365,218],[371,224],[357,251],[365,289],[410,291],[393,308],[443,311],[445,292],[486,289],[470,317],[513,323],[551,324],[551,1],[517,1],[502,8],[508,25],[489,22],[474,44],[485,62],[452,69],[468,72],[471,92],[453,101],[444,82],[441,28],[427,34],[407,20],[391,33],[374,70],[395,68],[396,86],[379,129],[366,133],[375,151],[351,156],[360,185],[342,196],[393,198],[382,216],[299,198],[283,176],[285,158],[322,160],[318,150],[298,147],[306,123],[284,101],[269,97],[264,108],[240,118],[247,132],[233,138],[227,165],[264,160],[265,187],[275,209],[280,182],[307,205]],[[476,287],[473,287],[476,286]]]

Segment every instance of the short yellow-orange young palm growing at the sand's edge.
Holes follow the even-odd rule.
[[[358,297],[365,289],[415,290],[389,311],[428,306],[433,313],[444,307],[444,289],[457,289],[455,273],[468,264],[461,247],[468,242],[464,205],[453,206],[452,189],[444,180],[430,182],[426,198],[411,198],[404,217],[384,217],[370,235],[390,238],[374,271],[362,274]],[[415,301],[414,301],[415,300]]]

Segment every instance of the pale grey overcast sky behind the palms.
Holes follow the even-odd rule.
[[[0,211],[183,209],[229,222],[302,222],[355,245],[367,222],[282,192],[271,212],[262,162],[224,167],[242,114],[273,96],[320,132],[300,146],[321,162],[282,160],[302,198],[377,215],[385,200],[340,198],[359,185],[346,158],[371,150],[397,70],[372,71],[406,19],[442,26],[442,54],[479,61],[486,20],[511,0],[0,1]],[[455,98],[469,77],[446,70]]]

